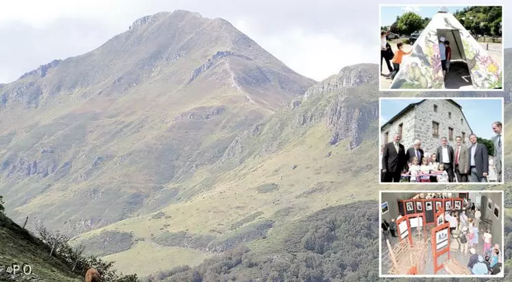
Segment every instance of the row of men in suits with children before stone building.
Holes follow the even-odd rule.
[[[502,123],[493,123],[492,129],[496,136],[492,138],[494,158],[491,159],[491,167],[496,172],[498,182],[501,182]],[[446,182],[487,182],[487,147],[477,142],[474,133],[469,136],[469,147],[463,146],[461,136],[456,136],[456,146],[450,146],[448,138],[442,137],[440,146],[430,156],[425,155],[420,140],[415,140],[413,147],[405,149],[400,144],[401,137],[400,134],[395,134],[393,141],[382,147],[382,182],[399,182],[404,175],[409,175],[411,182],[416,182],[417,179],[421,179],[420,182],[445,182],[444,179]]]

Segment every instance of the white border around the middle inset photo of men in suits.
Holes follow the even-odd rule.
[[[381,107],[382,107],[382,100],[423,100],[423,99],[426,99],[426,100],[447,100],[447,99],[451,99],[451,100],[454,100],[455,102],[457,100],[500,100],[501,101],[501,122],[502,122],[502,127],[505,127],[504,125],[504,120],[505,120],[505,108],[504,108],[504,98],[503,97],[379,97],[378,99],[378,154],[377,154],[377,162],[379,162],[379,172],[378,172],[378,183],[381,184],[381,185],[501,185],[504,183],[504,175],[502,173],[501,175],[501,181],[500,182],[450,182],[450,183],[437,183],[437,182],[417,182],[417,183],[414,183],[414,182],[382,182],[382,179],[380,179],[380,170],[381,170],[381,165],[380,165],[380,162],[382,162],[382,160],[380,159],[380,148],[382,147],[383,143],[382,143],[382,133],[380,132],[380,127],[382,127],[382,124],[381,124],[381,120],[380,120],[380,113],[382,112],[381,111]],[[411,102],[412,103],[412,102]],[[397,113],[398,114],[398,113]],[[491,125],[489,125],[490,127]],[[489,129],[490,130],[490,129]],[[505,148],[505,140],[504,142],[502,142],[502,152],[504,152],[504,150],[506,150]],[[502,153],[501,154],[501,163],[502,163],[502,168],[504,168],[504,160],[505,160],[505,154]],[[444,191],[443,191],[444,192]]]

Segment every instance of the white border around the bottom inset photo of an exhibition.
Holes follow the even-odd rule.
[[[419,193],[432,193],[432,192],[452,192],[452,193],[483,193],[484,195],[487,194],[487,193],[501,193],[501,204],[502,204],[502,207],[500,207],[500,212],[504,212],[503,211],[503,207],[504,207],[504,191],[503,190],[380,190],[379,193],[378,193],[378,203],[379,203],[379,209],[380,209],[380,203],[382,203],[382,193],[392,193],[392,194],[400,194],[400,193],[407,193],[407,194],[410,194],[410,193],[416,193],[416,194],[419,194]],[[432,204],[433,205],[433,204]],[[389,207],[389,205],[388,205]],[[494,216],[494,213],[493,213],[493,216]],[[501,231],[502,231],[502,236],[501,236],[501,250],[500,252],[501,253],[504,253],[504,229],[505,229],[505,225],[504,225],[504,214],[502,214],[502,217],[501,217]],[[379,241],[378,241],[378,253],[379,253],[379,256],[378,256],[378,274],[379,274],[379,278],[436,278],[436,277],[439,277],[439,278],[470,278],[470,277],[474,277],[474,278],[489,278],[489,275],[473,275],[473,274],[470,274],[470,275],[446,275],[446,274],[425,274],[425,275],[391,275],[391,274],[382,274],[382,232],[380,232],[380,222],[382,222],[382,214],[379,212],[379,221],[378,221],[378,238],[379,238]],[[437,221],[436,221],[436,225],[437,225]],[[503,271],[501,272],[500,275],[493,275],[493,277],[496,277],[496,278],[503,278],[504,277],[504,268],[505,266],[502,266],[503,268]]]

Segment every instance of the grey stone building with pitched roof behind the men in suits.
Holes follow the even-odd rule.
[[[413,146],[415,139],[421,140],[422,149],[430,155],[443,136],[451,146],[456,146],[456,136],[461,136],[465,146],[469,146],[472,129],[461,105],[452,99],[424,99],[409,104],[380,127],[381,144],[391,142],[395,133],[401,133],[406,149]]]

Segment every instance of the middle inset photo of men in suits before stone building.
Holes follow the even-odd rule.
[[[380,183],[503,182],[502,98],[380,98]]]

